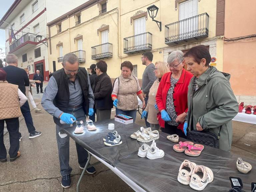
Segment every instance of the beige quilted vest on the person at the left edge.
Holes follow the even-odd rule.
[[[20,105],[27,101],[26,96],[21,98],[22,104],[19,103],[19,94],[21,91],[18,85],[13,85],[7,81],[0,81],[0,119],[10,119],[21,116]],[[25,102],[24,102],[25,100]]]

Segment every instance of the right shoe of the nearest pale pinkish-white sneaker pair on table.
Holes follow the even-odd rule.
[[[189,186],[197,191],[202,191],[208,183],[213,181],[213,172],[203,165],[196,165],[191,175]]]

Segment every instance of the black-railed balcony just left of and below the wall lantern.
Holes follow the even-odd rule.
[[[152,34],[149,32],[124,38],[124,53],[133,54],[152,50]]]

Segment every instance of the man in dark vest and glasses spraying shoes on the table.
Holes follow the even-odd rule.
[[[61,134],[60,130],[73,124],[71,118],[78,121],[86,121],[86,115],[93,114],[94,95],[90,85],[87,70],[79,67],[78,58],[72,53],[64,55],[63,68],[52,73],[42,97],[43,108],[53,115],[56,124],[56,137],[59,150],[61,186],[71,186],[69,166],[69,136]],[[60,124],[60,119],[66,124]],[[75,129],[76,123],[73,124]],[[88,152],[76,143],[78,163],[80,169],[84,169],[88,158]],[[86,169],[89,174],[96,172],[94,167]]]

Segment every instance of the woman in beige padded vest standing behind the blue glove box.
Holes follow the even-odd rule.
[[[137,95],[142,101],[143,108],[145,108],[145,101],[139,81],[132,75],[132,70],[133,65],[130,61],[124,61],[121,64],[121,75],[114,82],[111,97],[116,107],[116,115],[123,114],[133,117],[133,122],[135,122],[138,108]]]

